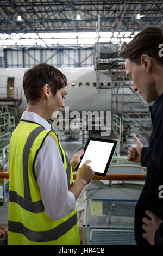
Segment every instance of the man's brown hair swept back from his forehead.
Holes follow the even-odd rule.
[[[140,57],[147,54],[163,65],[163,57],[159,56],[159,44],[163,44],[163,30],[161,27],[148,26],[142,29],[133,40],[119,52],[122,59],[130,59],[140,65]]]

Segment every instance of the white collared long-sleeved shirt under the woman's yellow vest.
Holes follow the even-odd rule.
[[[34,112],[24,111],[21,119],[35,122],[46,130],[51,130],[51,125]],[[52,135],[48,135],[43,142],[36,157],[34,170],[45,214],[52,220],[70,214],[75,208],[75,197],[68,191],[65,167]]]

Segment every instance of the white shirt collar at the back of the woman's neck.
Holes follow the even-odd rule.
[[[40,124],[43,126],[46,130],[51,130],[51,124],[48,123],[45,119],[40,117],[40,115],[37,115],[34,112],[30,111],[24,111],[22,114],[21,119],[27,120],[27,121],[32,121],[34,123]]]

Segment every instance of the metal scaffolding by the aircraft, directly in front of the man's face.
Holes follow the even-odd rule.
[[[118,58],[118,51],[108,44],[102,44],[99,38],[100,17],[96,26],[97,40],[95,45],[94,66],[98,92],[111,90],[111,136],[117,139],[116,155],[127,153],[128,147],[135,144],[132,137],[135,131],[141,142],[148,143],[152,132],[152,121],[149,104],[138,93],[134,92],[130,78],[126,76],[124,60]],[[101,72],[108,70],[111,83],[101,82]],[[115,124],[115,119],[117,124]],[[117,132],[118,129],[118,132]]]

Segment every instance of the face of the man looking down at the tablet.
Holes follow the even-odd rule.
[[[129,59],[126,59],[126,75],[133,80],[134,92],[139,92],[147,102],[156,100],[157,93],[154,85],[153,76],[147,71],[149,63],[137,65]]]

